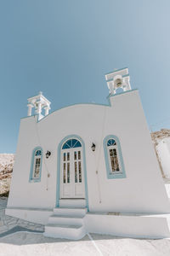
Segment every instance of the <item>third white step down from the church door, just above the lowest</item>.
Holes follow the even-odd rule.
[[[48,224],[71,224],[83,225],[83,217],[81,216],[64,216],[52,215],[48,218]]]

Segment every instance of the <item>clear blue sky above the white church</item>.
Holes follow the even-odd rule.
[[[0,153],[14,153],[27,98],[52,111],[107,103],[105,73],[128,67],[148,125],[170,128],[170,1],[0,0]]]

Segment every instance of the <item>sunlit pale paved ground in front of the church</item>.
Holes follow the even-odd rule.
[[[81,241],[44,237],[28,232],[0,238],[0,256],[169,256],[170,240],[142,240],[90,234]]]

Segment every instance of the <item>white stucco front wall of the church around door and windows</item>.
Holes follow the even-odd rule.
[[[85,143],[89,211],[170,211],[138,90],[111,96],[111,106],[78,104],[36,119],[20,121],[8,207],[55,207],[58,145],[75,134]],[[119,138],[126,178],[106,176],[103,139],[108,135]],[[37,146],[43,149],[41,182],[29,183],[32,150]],[[52,153],[48,160],[47,150]]]

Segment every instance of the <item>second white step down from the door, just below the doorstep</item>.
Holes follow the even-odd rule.
[[[87,208],[77,208],[77,207],[59,207],[54,208],[54,215],[63,215],[63,216],[80,216],[83,217],[86,215]]]

